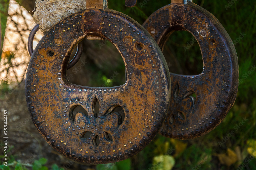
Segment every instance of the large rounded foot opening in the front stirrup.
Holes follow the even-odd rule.
[[[118,49],[108,40],[83,40],[84,53],[66,71],[71,84],[89,87],[114,87],[125,84],[125,65]],[[71,60],[76,52],[74,48]]]

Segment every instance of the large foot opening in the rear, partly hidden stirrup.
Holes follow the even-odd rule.
[[[171,73],[197,75],[203,71],[199,44],[188,31],[174,31],[164,45],[163,54]]]

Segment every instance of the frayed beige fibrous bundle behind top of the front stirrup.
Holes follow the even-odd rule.
[[[45,32],[61,19],[85,9],[86,0],[37,0],[35,7],[33,19],[41,32]]]

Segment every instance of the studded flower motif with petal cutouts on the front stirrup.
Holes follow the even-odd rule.
[[[97,98],[93,99],[92,107],[93,113],[91,113],[89,116],[78,112],[74,118],[74,125],[79,129],[76,134],[79,135],[82,132],[81,138],[84,139],[84,142],[91,143],[90,141],[92,140],[93,145],[96,148],[101,142],[104,142],[104,140],[107,142],[113,141],[111,133],[114,133],[122,124],[122,116],[120,113],[122,113],[123,109],[119,105],[112,106],[109,108],[107,114],[103,115],[103,113],[99,112],[100,103]],[[91,110],[88,111],[91,112]],[[105,128],[102,128],[102,126]],[[97,133],[95,133],[95,131],[93,132],[94,128],[97,129]],[[86,130],[83,131],[83,129]],[[91,133],[89,134],[89,132]]]

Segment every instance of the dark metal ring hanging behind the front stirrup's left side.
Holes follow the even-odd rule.
[[[29,36],[28,36],[28,53],[29,56],[31,57],[34,49],[33,49],[33,42],[34,42],[34,38],[36,35],[36,32],[39,30],[39,24],[36,24],[35,27],[31,30]],[[74,56],[74,58],[68,63],[68,67],[67,70],[72,68],[80,59],[81,55],[82,55],[82,51],[83,51],[83,42],[81,41],[78,45],[77,45],[77,52],[76,55]]]

